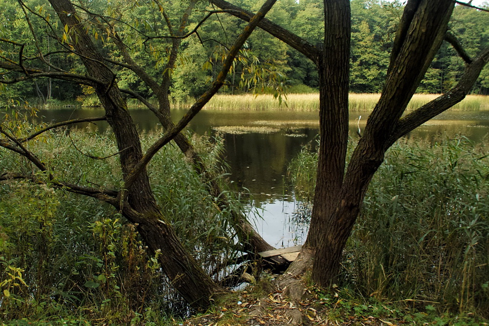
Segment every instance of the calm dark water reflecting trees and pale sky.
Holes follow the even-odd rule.
[[[151,130],[158,125],[153,114],[145,109],[131,110],[141,130]],[[177,121],[185,110],[174,110]],[[102,116],[101,109],[57,109],[43,110],[39,116],[46,122],[62,121],[81,117]],[[358,127],[363,129],[368,112],[352,113],[350,134],[356,138]],[[358,124],[358,117],[361,115]],[[80,126],[86,128],[88,124]],[[272,245],[289,246],[301,243],[304,227],[289,223],[296,209],[287,177],[287,165],[302,146],[317,136],[319,122],[317,112],[294,111],[223,111],[203,110],[189,124],[188,129],[198,134],[214,134],[217,127],[267,127],[276,129],[272,133],[224,133],[226,162],[229,165],[230,181],[241,191],[246,188],[252,196],[257,230]],[[107,123],[97,122],[89,128],[104,131]],[[466,112],[448,111],[412,131],[406,137],[430,138],[446,132],[461,134],[480,142],[489,133],[489,110]],[[294,229],[291,228],[294,224]]]

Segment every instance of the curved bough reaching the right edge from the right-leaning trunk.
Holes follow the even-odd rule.
[[[474,85],[480,72],[488,61],[489,47],[486,47],[477,58],[467,66],[462,78],[455,87],[399,120],[397,128],[393,130],[388,138],[386,143],[387,148],[409,131],[414,130],[429,119],[462,101]]]

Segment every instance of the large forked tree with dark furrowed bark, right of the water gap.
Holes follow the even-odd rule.
[[[251,17],[249,12],[224,0],[211,2],[222,9],[236,10],[231,14],[243,20]],[[267,19],[259,24],[311,60],[320,81],[320,148],[310,231],[284,284],[291,282],[290,275],[300,275],[311,265],[312,278],[319,285],[334,282],[342,250],[386,150],[402,135],[461,101],[489,60],[489,47],[480,50],[474,59],[467,58],[465,72],[455,87],[402,117],[447,36],[455,5],[451,0],[409,0],[392,45],[382,95],[347,166],[350,1],[328,0],[323,4],[324,41],[320,45]]]

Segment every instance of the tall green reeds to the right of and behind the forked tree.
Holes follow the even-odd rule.
[[[293,164],[310,196],[315,153]],[[374,176],[345,248],[343,279],[364,296],[489,315],[489,145],[400,141]],[[301,162],[304,162],[303,164]]]

